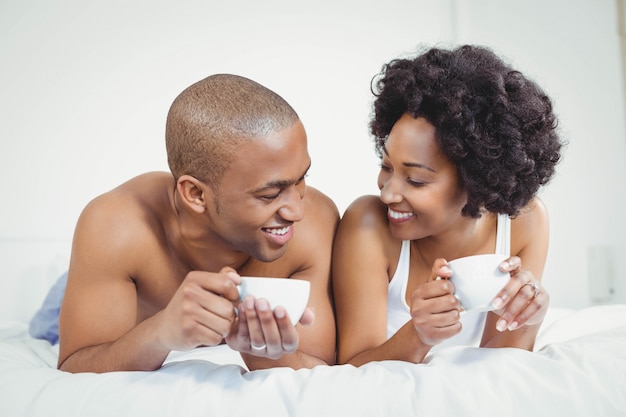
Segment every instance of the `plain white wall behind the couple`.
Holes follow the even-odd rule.
[[[553,305],[626,302],[617,27],[615,0],[0,0],[0,317],[30,317],[90,199],[167,170],[166,112],[189,84],[232,72],[285,97],[308,131],[309,184],[343,211],[377,192],[372,76],[419,44],[457,42],[535,78],[570,142],[542,192]]]

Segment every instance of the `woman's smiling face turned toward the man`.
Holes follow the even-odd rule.
[[[414,240],[447,231],[467,202],[456,166],[441,152],[435,127],[404,114],[383,148],[380,199],[388,207],[391,234]]]

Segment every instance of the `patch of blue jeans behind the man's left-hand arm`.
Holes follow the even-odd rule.
[[[44,339],[55,345],[59,342],[59,312],[65,294],[67,272],[63,273],[43,301],[41,308],[30,320],[28,333],[35,339]]]

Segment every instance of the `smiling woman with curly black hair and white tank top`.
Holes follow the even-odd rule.
[[[536,193],[562,147],[550,99],[475,46],[394,60],[375,87],[380,198],[354,201],[338,229],[338,362],[419,363],[459,344],[532,350],[549,302]],[[510,280],[493,311],[462,315],[447,261],[494,252],[509,256]]]

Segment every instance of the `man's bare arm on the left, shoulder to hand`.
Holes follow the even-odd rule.
[[[171,350],[219,343],[234,320],[238,278],[226,271],[192,272],[165,309],[140,314],[133,277],[156,261],[155,239],[124,203],[100,197],[78,221],[59,320],[61,370],[157,369]]]

